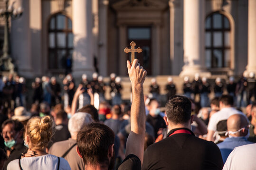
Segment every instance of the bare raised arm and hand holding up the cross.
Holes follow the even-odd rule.
[[[131,133],[126,142],[125,156],[134,154],[143,161],[144,138],[145,138],[145,104],[143,98],[143,83],[147,72],[138,63],[138,59],[127,61],[129,77],[132,83],[133,103],[131,107]]]

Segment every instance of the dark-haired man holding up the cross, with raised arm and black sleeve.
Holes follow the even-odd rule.
[[[133,89],[131,133],[126,143],[126,158],[118,170],[140,170],[143,161],[146,121],[143,83],[147,72],[140,66],[138,59],[133,61],[133,65],[127,61],[127,68]],[[76,140],[76,151],[83,158],[86,170],[113,169],[114,132],[109,127],[92,123],[78,132]]]

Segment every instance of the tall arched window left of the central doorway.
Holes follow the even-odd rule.
[[[48,68],[51,70],[72,67],[72,21],[63,14],[50,18],[48,24]]]

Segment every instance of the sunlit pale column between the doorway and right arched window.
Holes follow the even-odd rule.
[[[210,76],[205,68],[205,0],[184,0],[184,66],[180,76]]]

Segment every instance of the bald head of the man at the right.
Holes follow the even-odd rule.
[[[248,125],[247,119],[241,114],[234,114],[228,118],[227,127],[228,131],[235,132]]]

